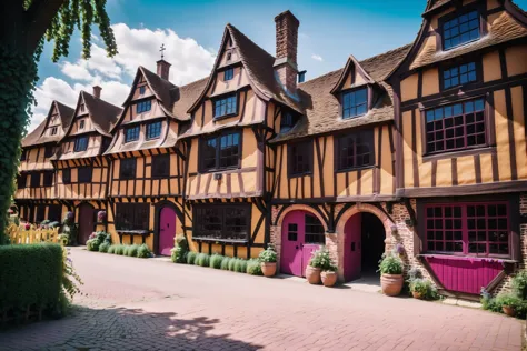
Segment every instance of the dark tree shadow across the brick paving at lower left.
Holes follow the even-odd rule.
[[[213,332],[219,319],[173,312],[74,307],[70,317],[0,332],[0,350],[259,350]]]

